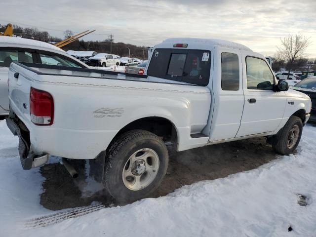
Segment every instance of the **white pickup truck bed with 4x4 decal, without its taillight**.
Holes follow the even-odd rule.
[[[53,124],[31,121],[31,87],[53,97]],[[37,155],[93,159],[125,126],[153,117],[174,124],[178,151],[203,146],[208,136],[191,135],[205,127],[210,100],[207,87],[142,75],[29,63],[12,63],[9,69],[11,114],[29,130],[30,150]]]

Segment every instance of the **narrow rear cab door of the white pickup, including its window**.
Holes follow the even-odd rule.
[[[214,112],[209,141],[235,138],[244,103],[240,50],[215,48],[212,87]]]

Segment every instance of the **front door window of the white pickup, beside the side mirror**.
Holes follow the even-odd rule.
[[[247,88],[272,90],[274,76],[266,63],[260,58],[246,57]]]

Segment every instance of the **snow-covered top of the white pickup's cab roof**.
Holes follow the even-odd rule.
[[[203,43],[210,46],[221,46],[227,48],[236,48],[240,50],[252,51],[247,46],[235,43],[228,40],[218,40],[218,39],[198,39],[198,38],[170,38],[163,40],[162,43]]]

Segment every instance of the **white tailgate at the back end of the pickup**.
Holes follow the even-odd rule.
[[[30,88],[36,72],[22,64],[12,63],[9,68],[9,104],[10,110],[24,122],[30,118]]]

